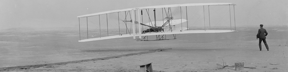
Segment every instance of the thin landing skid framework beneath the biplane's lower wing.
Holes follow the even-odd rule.
[[[176,39],[176,34],[173,34],[174,39]],[[156,35],[156,39],[148,39],[148,36],[145,36],[143,39],[137,39],[137,41],[158,41],[158,40],[170,40],[166,39],[165,35]]]

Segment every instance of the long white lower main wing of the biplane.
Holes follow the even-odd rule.
[[[152,35],[165,35],[165,34],[184,34],[184,33],[225,33],[225,32],[238,32],[235,30],[183,30],[183,31],[173,31],[173,32],[151,32],[151,33],[145,33],[141,34],[141,36],[152,36]],[[88,41],[96,41],[96,40],[103,40],[103,39],[114,39],[114,38],[123,38],[123,37],[132,37],[131,34],[124,34],[122,36],[115,35],[115,36],[106,36],[101,38],[92,38],[92,39],[83,39],[79,40],[78,42],[88,42]],[[136,34],[136,36],[139,36],[139,34]]]

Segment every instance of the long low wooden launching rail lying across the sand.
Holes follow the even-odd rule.
[[[153,53],[153,52],[155,52],[155,50],[138,52],[138,53],[129,53],[129,54],[118,55],[118,56],[96,58],[96,59],[85,59],[85,60],[78,60],[78,61],[58,62],[58,63],[49,63],[49,64],[40,64],[40,65],[24,65],[24,66],[15,66],[15,67],[4,67],[4,68],[0,68],[0,71],[10,70],[10,69],[19,69],[19,68],[36,68],[36,67],[52,66],[52,65],[65,65],[65,64],[70,64],[70,63],[79,63],[79,62],[88,62],[88,61],[96,61],[96,60],[113,59],[113,58],[119,58],[119,57],[123,57],[123,56],[131,56],[131,55],[144,54],[144,53]]]

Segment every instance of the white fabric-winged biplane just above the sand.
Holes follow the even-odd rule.
[[[153,36],[156,35],[156,39],[154,40],[167,40],[164,35],[173,35],[174,39],[176,39],[176,34],[185,34],[185,33],[225,33],[225,32],[238,32],[235,30],[232,30],[231,27],[231,14],[230,14],[230,30],[207,30],[204,28],[204,30],[189,30],[188,28],[188,20],[187,20],[187,6],[203,6],[203,11],[204,11],[204,6],[215,6],[215,5],[227,5],[229,6],[229,11],[230,11],[230,6],[234,5],[233,3],[191,3],[191,4],[170,4],[170,5],[158,5],[158,6],[148,6],[148,7],[135,7],[135,8],[128,8],[128,9],[122,9],[122,10],[111,10],[111,11],[105,11],[105,12],[99,12],[99,13],[92,13],[92,14],[87,14],[87,15],[82,15],[82,16],[77,16],[78,18],[86,17],[86,21],[88,21],[88,17],[91,16],[99,16],[99,25],[100,25],[100,15],[106,15],[111,14],[111,13],[118,13],[118,23],[119,23],[119,35],[114,35],[114,36],[109,36],[108,34],[108,17],[107,18],[107,36],[101,37],[101,28],[100,28],[100,37],[97,38],[88,38],[88,22],[87,22],[87,39],[82,39],[80,37],[80,40],[78,42],[87,42],[87,41],[96,41],[96,40],[104,40],[104,39],[113,39],[113,38],[123,38],[123,37],[133,37],[133,39],[137,39],[137,41],[149,41],[148,36]],[[178,18],[173,17],[172,9],[171,7],[178,7],[180,8],[180,16]],[[182,7],[185,7],[186,10],[181,9]],[[149,9],[153,11],[149,11]],[[156,10],[158,9],[158,10]],[[162,9],[162,11],[161,11]],[[156,13],[156,12],[161,12]],[[179,10],[177,10],[179,11]],[[182,11],[186,11],[186,19],[182,18]],[[125,18],[123,17],[123,20],[120,21],[119,19],[119,13],[120,12],[125,12]],[[152,12],[152,13],[151,13]],[[175,12],[174,12],[175,13]],[[231,12],[230,12],[231,13]],[[143,15],[146,14],[147,17],[143,18]],[[205,27],[205,13],[204,14],[204,27]],[[128,16],[130,15],[130,17]],[[142,18],[140,18],[141,16]],[[161,20],[156,20],[156,16],[162,16]],[[179,15],[179,14],[178,14]],[[128,16],[128,17],[127,17]],[[130,18],[130,19],[129,19]],[[141,20],[142,19],[142,20]],[[143,23],[143,19],[146,19],[145,24]],[[154,19],[154,20],[153,20]],[[235,20],[235,10],[234,10],[234,20]],[[126,34],[121,34],[120,33],[120,22],[123,22],[123,25],[126,29]],[[131,23],[132,26],[132,31],[133,33],[131,34],[130,31],[129,34],[127,33],[128,27],[127,24]],[[186,27],[182,26],[182,23],[187,24]],[[176,27],[176,25],[181,24],[181,27]],[[235,21],[234,21],[235,24]],[[104,24],[105,25],[105,24]],[[138,25],[138,33],[137,33],[137,26]],[[209,25],[210,25],[210,12],[209,12]],[[142,28],[141,28],[142,26]],[[147,29],[144,29],[144,27],[148,27]],[[101,27],[101,26],[99,26]],[[142,30],[141,30],[142,29]],[[80,19],[79,19],[79,34],[80,34]],[[81,35],[80,35],[81,36]],[[136,36],[139,36],[139,38],[136,38]],[[142,39],[142,36],[144,38]],[[146,38],[147,37],[147,38]]]

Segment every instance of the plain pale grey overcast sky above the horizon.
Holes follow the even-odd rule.
[[[0,0],[0,30],[78,27],[77,16],[109,10],[187,3],[235,3],[238,26],[287,25],[287,0]]]

